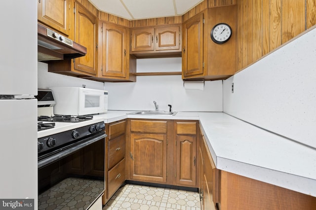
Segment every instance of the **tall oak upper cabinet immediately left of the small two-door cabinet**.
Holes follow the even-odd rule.
[[[136,60],[129,54],[129,29],[99,21],[98,79],[104,81],[136,81],[130,75],[136,70]]]

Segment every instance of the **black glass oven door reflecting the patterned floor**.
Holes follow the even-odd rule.
[[[86,210],[103,194],[105,136],[39,157],[39,210]]]

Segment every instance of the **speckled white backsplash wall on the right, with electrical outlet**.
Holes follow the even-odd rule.
[[[314,27],[225,80],[223,109],[241,120],[316,148],[315,84]]]

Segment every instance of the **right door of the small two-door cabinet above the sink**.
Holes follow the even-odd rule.
[[[179,50],[180,27],[156,28],[156,50]]]

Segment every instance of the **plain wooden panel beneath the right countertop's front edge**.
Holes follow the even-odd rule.
[[[221,210],[315,210],[316,197],[221,171]]]

